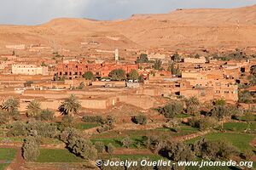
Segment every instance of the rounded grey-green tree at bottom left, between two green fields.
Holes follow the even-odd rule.
[[[26,161],[36,161],[40,151],[39,151],[39,142],[38,139],[34,137],[27,137],[21,148],[22,156]]]

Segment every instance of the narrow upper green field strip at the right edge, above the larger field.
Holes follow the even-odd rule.
[[[234,132],[256,131],[256,122],[226,122],[224,130]]]

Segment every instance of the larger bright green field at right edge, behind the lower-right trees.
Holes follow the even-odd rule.
[[[249,143],[254,139],[253,134],[249,133],[209,133],[204,136],[208,140],[225,140],[230,144],[236,146],[239,150],[253,150],[253,146]],[[202,138],[202,137],[201,137]],[[190,139],[187,141],[188,144],[194,144],[195,141],[201,138]]]

